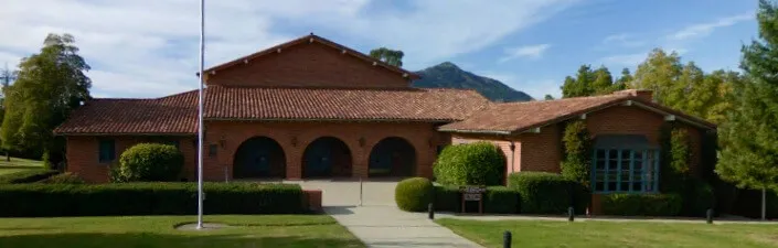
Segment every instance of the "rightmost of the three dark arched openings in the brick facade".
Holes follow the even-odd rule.
[[[370,152],[370,176],[412,176],[416,169],[416,150],[403,138],[381,140]]]

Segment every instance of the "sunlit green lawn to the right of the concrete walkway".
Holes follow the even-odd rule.
[[[778,225],[664,224],[648,222],[478,222],[436,220],[487,247],[502,247],[505,230],[513,247],[777,247]]]

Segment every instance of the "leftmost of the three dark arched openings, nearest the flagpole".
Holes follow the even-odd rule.
[[[237,148],[233,160],[234,179],[285,177],[286,155],[278,142],[267,137],[251,138]]]

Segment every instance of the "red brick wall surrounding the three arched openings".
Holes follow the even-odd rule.
[[[235,151],[252,137],[268,137],[281,145],[286,155],[286,176],[290,180],[302,177],[305,149],[321,137],[338,138],[349,147],[351,175],[355,179],[369,177],[370,152],[382,139],[399,137],[408,141],[416,150],[416,174],[427,177],[433,175],[437,145],[448,142],[431,123],[209,121],[206,145],[217,144],[219,149],[215,157],[205,155],[205,180],[223,180],[225,169],[232,172]]]

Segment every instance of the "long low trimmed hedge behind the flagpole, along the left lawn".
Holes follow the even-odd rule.
[[[205,183],[205,214],[303,213],[299,185]],[[0,216],[192,215],[194,183],[0,185]]]

